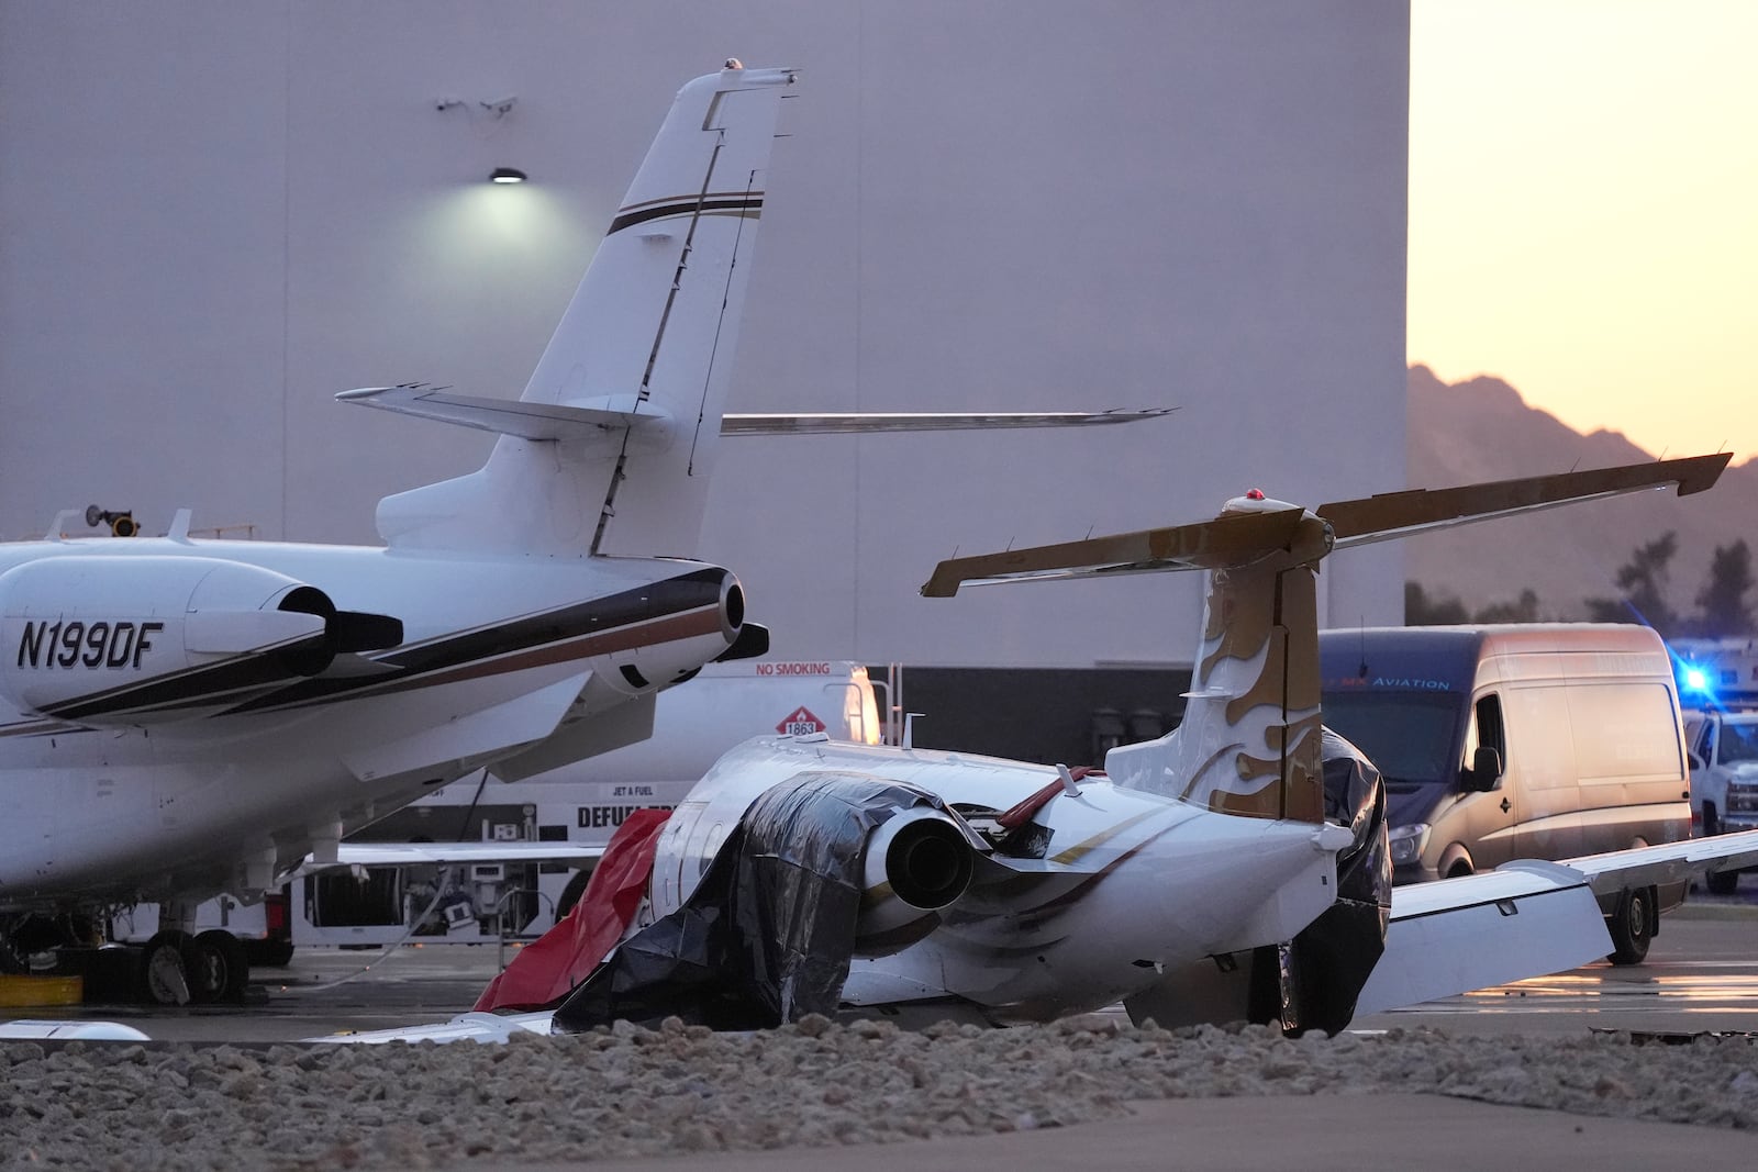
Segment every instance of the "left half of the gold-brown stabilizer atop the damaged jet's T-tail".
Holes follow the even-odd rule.
[[[1303,510],[1232,513],[1192,525],[1141,529],[1109,538],[1086,538],[1062,545],[1037,545],[1006,553],[953,557],[933,568],[921,587],[926,597],[951,597],[958,587],[1046,578],[1092,578],[1097,575],[1155,569],[1210,569],[1248,561],[1287,546],[1299,529]]]

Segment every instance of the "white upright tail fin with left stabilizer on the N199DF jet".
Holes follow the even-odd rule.
[[[788,69],[728,61],[677,93],[519,402],[348,392],[501,432],[476,473],[380,501],[387,543],[694,552],[770,146],[793,81]]]

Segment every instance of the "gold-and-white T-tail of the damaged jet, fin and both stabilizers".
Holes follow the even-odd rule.
[[[963,583],[1208,569],[1208,601],[1185,720],[1157,742],[1120,745],[1106,771],[1134,785],[1246,817],[1324,819],[1318,713],[1318,562],[1333,548],[1575,501],[1714,485],[1728,455],[1392,492],[1317,511],[1260,492],[1192,525],[1143,529],[941,562],[921,592]]]

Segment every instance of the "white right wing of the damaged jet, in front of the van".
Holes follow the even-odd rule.
[[[1596,896],[1751,865],[1758,831],[1398,887],[1355,1016],[1587,965],[1612,951]]]

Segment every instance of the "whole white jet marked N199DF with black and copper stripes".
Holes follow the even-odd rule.
[[[195,541],[186,511],[156,539],[65,539],[63,513],[0,546],[0,972],[53,942],[42,912],[156,901],[142,991],[236,996],[243,951],[192,938],[199,900],[257,898],[308,856],[387,861],[339,840],[483,766],[519,780],[638,742],[656,692],[761,655],[738,580],[687,561],[721,434],[1166,413],[724,415],[793,84],[730,60],[679,91],[517,401],[338,395],[499,434],[480,471],[380,501],[383,548]],[[86,520],[105,518],[134,529]],[[485,850],[520,847],[410,861]]]

